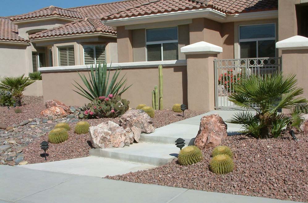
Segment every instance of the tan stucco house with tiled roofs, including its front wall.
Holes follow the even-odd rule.
[[[71,83],[81,82],[77,71],[86,73],[88,64],[104,60],[112,69],[121,67],[128,83],[134,84],[123,95],[132,107],[152,103],[157,66],[162,64],[166,108],[185,103],[190,109],[212,110],[232,106],[228,101],[222,105],[227,96],[217,93],[218,75],[231,68],[254,74],[281,68],[297,73],[308,96],[303,74],[307,4],[307,0],[130,0],[69,9],[50,6],[1,18],[11,35],[3,38],[2,29],[0,43],[15,43],[1,45],[14,45],[11,52],[25,50],[22,62],[28,64],[27,71],[38,68],[43,74],[45,100],[87,102],[71,90]],[[296,35],[302,36],[300,52],[292,45],[276,48],[277,42]],[[291,39],[291,44],[298,40]],[[302,67],[291,68],[294,64]],[[1,72],[4,69],[7,65],[1,62]]]

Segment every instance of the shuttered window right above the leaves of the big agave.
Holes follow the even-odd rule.
[[[106,61],[105,45],[83,45],[83,53],[85,65]]]

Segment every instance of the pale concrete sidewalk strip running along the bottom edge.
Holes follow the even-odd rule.
[[[296,203],[0,165],[0,203]]]

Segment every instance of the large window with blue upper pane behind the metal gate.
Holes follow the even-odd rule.
[[[275,23],[239,27],[241,58],[276,56]]]

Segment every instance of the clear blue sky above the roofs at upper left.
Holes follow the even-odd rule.
[[[50,5],[69,8],[114,1],[117,0],[5,0],[0,7],[0,16],[24,14]]]

